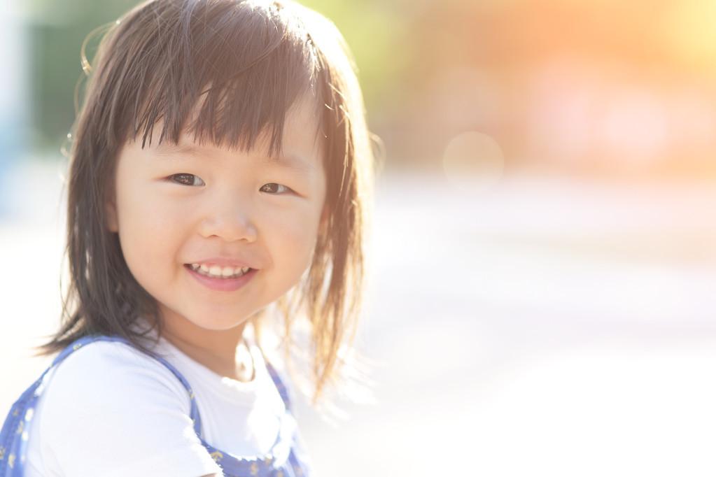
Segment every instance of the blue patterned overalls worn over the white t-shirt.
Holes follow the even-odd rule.
[[[5,423],[0,431],[0,477],[23,477],[26,461],[27,442],[29,438],[30,421],[34,414],[37,399],[42,395],[44,386],[42,379],[49,370],[61,363],[73,351],[83,345],[95,341],[120,341],[132,345],[129,341],[118,336],[93,335],[85,336],[74,341],[71,345],[62,350],[52,361],[52,365],[42,373],[42,376],[34,382],[10,408]],[[201,417],[194,399],[194,392],[189,383],[173,365],[164,358],[158,360],[165,365],[184,385],[189,394],[191,402],[190,417],[194,423],[194,431],[199,437],[203,446],[211,454],[214,461],[221,466],[223,475],[226,477],[303,477],[309,476],[309,465],[301,446],[301,441],[296,429],[296,421],[291,415],[289,406],[289,395],[286,386],[281,382],[279,374],[266,360],[266,368],[269,370],[271,379],[274,380],[276,388],[281,394],[281,399],[286,405],[286,413],[281,418],[279,436],[269,453],[254,458],[236,458],[224,453],[207,443],[201,436]],[[198,476],[197,476],[198,477]]]

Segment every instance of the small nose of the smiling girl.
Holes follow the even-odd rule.
[[[258,232],[253,223],[253,207],[246,200],[213,202],[200,225],[200,235],[219,237],[226,242],[255,242]]]

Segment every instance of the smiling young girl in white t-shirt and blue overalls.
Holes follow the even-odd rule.
[[[83,66],[59,354],[6,418],[0,476],[309,475],[260,325],[283,320],[286,358],[306,325],[318,402],[373,174],[340,34],[289,1],[150,0]]]

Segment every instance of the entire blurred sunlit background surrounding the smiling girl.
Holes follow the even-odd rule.
[[[306,1],[382,138],[357,347],[299,409],[321,476],[713,476],[716,4]],[[79,49],[127,0],[0,9],[0,413],[59,319]]]

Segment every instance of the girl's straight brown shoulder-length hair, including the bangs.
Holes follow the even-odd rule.
[[[106,28],[92,65],[84,48],[89,79],[69,151],[69,286],[61,326],[39,354],[92,334],[120,335],[153,354],[142,343],[150,330],[138,333],[131,325],[141,315],[160,334],[157,305],[132,276],[117,235],[105,227],[117,154],[127,140],[141,137],[143,146],[161,121],[160,142],[176,144],[188,128],[200,141],[247,150],[270,132],[276,152],[286,112],[312,91],[321,117],[329,217],[309,271],[276,305],[287,358],[296,319],[309,324],[316,403],[335,382],[339,357],[354,338],[374,173],[362,94],[342,36],[323,16],[292,1],[150,0]],[[264,315],[251,318],[259,338]]]

